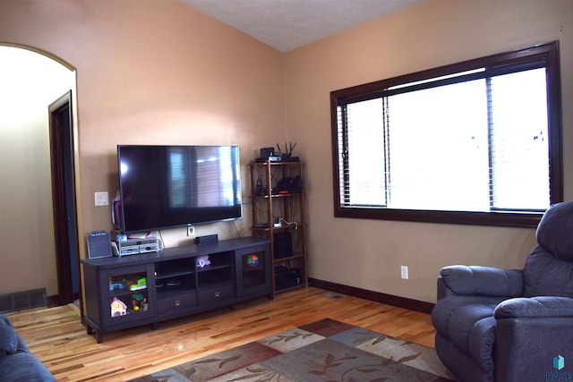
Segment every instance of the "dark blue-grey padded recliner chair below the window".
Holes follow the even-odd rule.
[[[436,352],[460,380],[572,380],[573,202],[549,208],[536,239],[523,270],[440,270]]]

